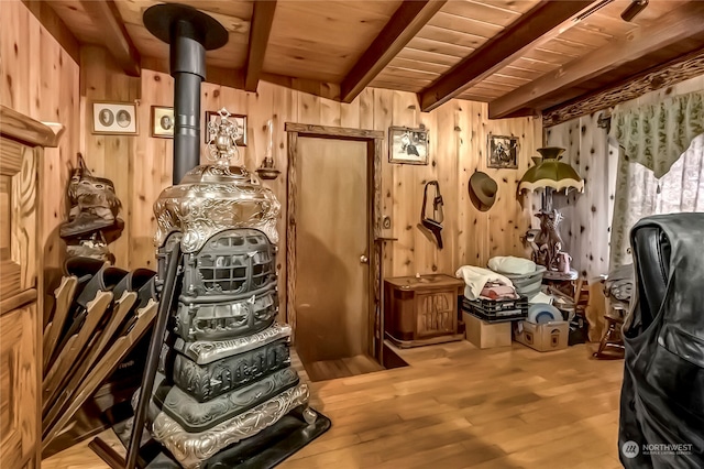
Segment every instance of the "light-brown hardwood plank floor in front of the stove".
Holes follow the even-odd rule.
[[[540,353],[460,341],[399,350],[409,367],[314,382],[311,405],[332,428],[280,467],[619,468],[624,363],[592,360],[595,348]],[[86,445],[42,468],[107,468]]]

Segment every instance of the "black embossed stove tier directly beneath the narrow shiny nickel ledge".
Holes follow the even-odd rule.
[[[168,360],[167,360],[168,362]],[[279,339],[274,343],[238,353],[205,366],[175,353],[174,383],[204,402],[246,385],[261,377],[290,364],[288,343]],[[168,370],[168,369],[167,369]]]

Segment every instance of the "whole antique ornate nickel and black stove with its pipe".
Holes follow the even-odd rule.
[[[210,164],[198,165],[205,50],[226,30],[178,4],[147,9],[144,24],[172,44],[174,186],[154,204],[160,312],[124,466],[135,467],[146,425],[185,468],[271,467],[330,426],[290,368],[290,327],[275,321],[280,205],[230,165],[245,129],[224,109],[209,126]]]

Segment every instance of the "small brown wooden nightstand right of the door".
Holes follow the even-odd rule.
[[[449,275],[384,280],[386,337],[400,348],[462,340],[458,297],[464,282]]]

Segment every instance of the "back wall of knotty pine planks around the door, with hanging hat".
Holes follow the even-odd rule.
[[[111,69],[112,65],[106,66],[106,62],[110,59],[105,54],[91,52],[91,61],[84,62],[86,65],[81,76],[86,80],[92,80],[92,77],[98,76],[91,72],[94,68]],[[173,79],[166,74],[145,69],[140,80],[140,133],[134,138],[124,138],[131,140],[132,145],[94,145],[98,146],[96,153],[91,152],[89,145],[86,146],[86,159],[91,168],[123,167],[120,165],[127,162],[127,171],[122,170],[120,175],[109,174],[109,177],[114,177],[116,185],[123,186],[118,188],[120,195],[125,194],[124,186],[131,194],[127,197],[121,196],[128,211],[128,227],[123,238],[129,249],[125,251],[118,243],[114,249],[118,264],[130,269],[154,265],[152,236],[155,222],[152,204],[160,192],[170,184],[172,177],[172,141],[150,137],[150,112],[152,106],[172,105]],[[120,84],[133,86],[130,81],[116,78],[112,78],[112,83],[113,94],[128,92],[114,89]],[[461,100],[453,100],[433,112],[420,112],[415,95],[384,89],[366,89],[354,102],[343,105],[268,83],[261,83],[256,94],[204,84],[201,102],[204,128],[206,110],[216,111],[226,107],[231,112],[248,116],[249,143],[240,150],[241,162],[250,170],[256,168],[264,157],[267,144],[266,121],[274,120],[274,159],[283,175],[264,184],[268,185],[282,201],[283,212],[278,222],[280,247],[285,246],[284,220],[287,219],[286,134],[283,130],[285,122],[375,129],[384,132],[389,126],[425,124],[430,132],[430,164],[427,166],[389,164],[386,141],[384,142],[382,216],[391,218],[392,228],[382,234],[398,238],[398,241],[391,243],[385,251],[386,274],[453,274],[462,264],[485,265],[492,255],[527,253],[519,236],[530,225],[531,208],[521,206],[516,197],[516,186],[528,167],[528,156],[534,154],[540,144],[539,120],[521,118],[490,121],[486,117],[486,105]],[[88,106],[82,109],[86,112],[89,110]],[[486,139],[490,132],[515,134],[520,138],[519,170],[486,168]],[[90,135],[86,135],[85,140],[98,142]],[[205,143],[202,146],[205,150]],[[487,212],[477,211],[469,199],[468,179],[476,170],[486,171],[499,185],[498,200]],[[442,251],[417,228],[420,221],[422,189],[425,183],[431,179],[440,182],[444,198],[446,248]],[[308,189],[316,190],[316,187]],[[284,252],[284,249],[279,250],[279,292],[285,292]]]

